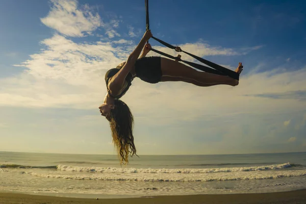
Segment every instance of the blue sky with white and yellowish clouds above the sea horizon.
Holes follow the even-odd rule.
[[[135,116],[138,154],[306,151],[305,9],[149,1],[154,36],[244,71],[237,87],[134,80],[122,100]],[[5,1],[0,19],[0,150],[114,154],[98,112],[104,74],[145,32],[144,1]]]

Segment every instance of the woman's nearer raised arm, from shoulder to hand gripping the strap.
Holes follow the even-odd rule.
[[[126,75],[132,70],[135,65],[136,60],[138,59],[142,48],[144,47],[146,41],[152,36],[150,30],[146,31],[143,35],[142,39],[138,43],[137,47],[131,53],[131,55],[127,58],[126,63],[123,67],[110,79],[109,81],[109,89],[112,95],[117,95],[120,91],[121,87],[124,84],[124,80]]]

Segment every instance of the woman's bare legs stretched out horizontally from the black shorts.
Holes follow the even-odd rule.
[[[161,69],[163,77],[170,77],[164,78],[163,80],[168,79],[171,81],[174,79],[182,79],[182,82],[192,83],[197,86],[214,86],[220,84],[237,86],[239,83],[238,80],[233,78],[224,75],[197,71],[185,64],[167,58],[161,58]]]

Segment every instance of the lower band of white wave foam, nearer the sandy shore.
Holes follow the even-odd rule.
[[[67,172],[68,173],[68,172]],[[99,180],[99,181],[142,181],[142,182],[210,182],[210,181],[236,181],[236,180],[265,180],[278,179],[281,177],[305,176],[306,170],[291,171],[249,171],[249,172],[220,172],[220,173],[163,173],[163,174],[122,174],[122,173],[103,173],[103,174],[60,174],[60,173],[34,173],[31,175],[38,177],[48,177],[55,179],[69,180]]]

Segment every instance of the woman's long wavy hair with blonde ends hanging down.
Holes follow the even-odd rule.
[[[122,100],[115,99],[114,108],[111,109],[110,126],[120,164],[126,165],[129,163],[129,154],[131,157],[136,155],[136,147],[133,136],[134,116]]]

